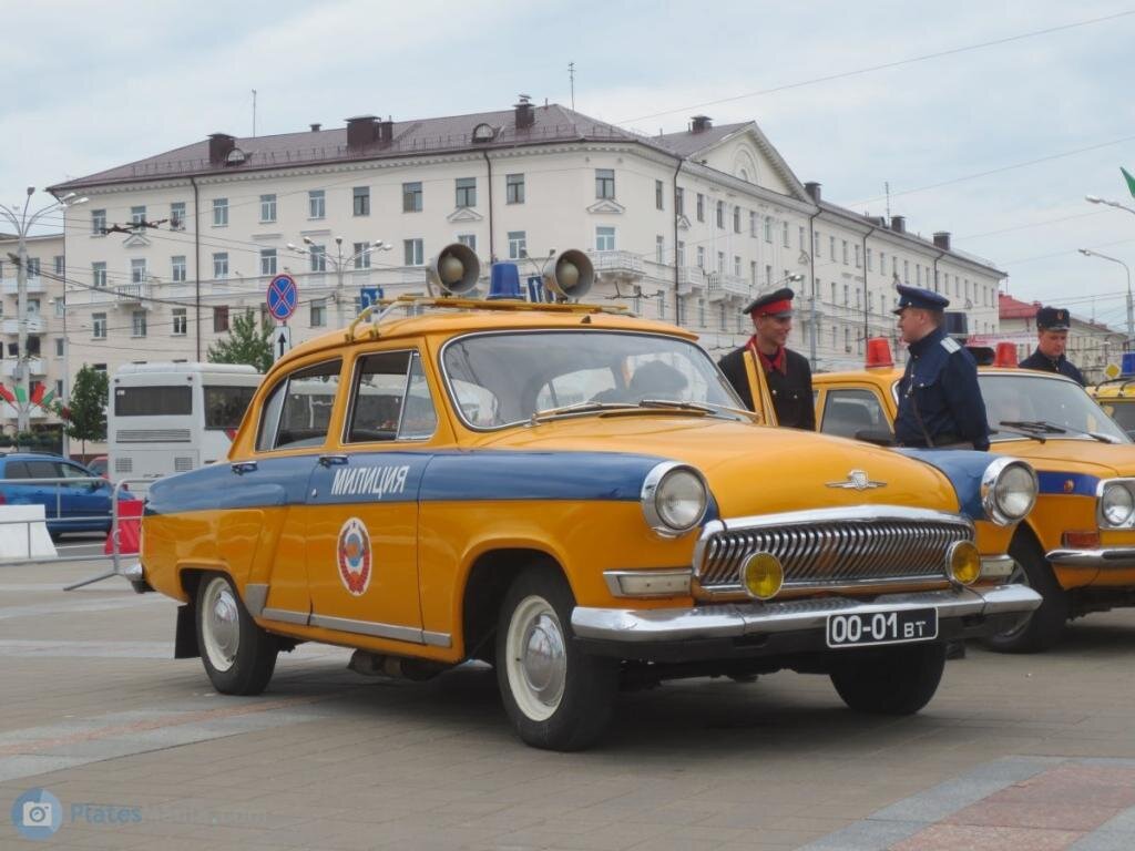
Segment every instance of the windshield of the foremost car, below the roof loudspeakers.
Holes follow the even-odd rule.
[[[661,335],[482,334],[449,343],[442,365],[455,407],[474,429],[501,428],[538,411],[588,403],[665,399],[741,407],[705,352]]]

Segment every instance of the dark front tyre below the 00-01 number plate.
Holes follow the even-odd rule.
[[[848,650],[832,671],[832,685],[850,709],[872,715],[913,715],[938,691],[945,644],[902,644]]]

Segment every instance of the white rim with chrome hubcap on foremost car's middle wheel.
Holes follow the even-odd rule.
[[[568,650],[555,610],[541,597],[521,601],[508,624],[508,682],[521,711],[533,721],[550,717],[563,698]]]

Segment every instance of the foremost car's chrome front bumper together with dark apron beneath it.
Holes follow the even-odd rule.
[[[1041,605],[1025,585],[819,597],[671,609],[577,607],[572,627],[592,652],[624,658],[714,658],[829,651],[829,615],[938,609],[939,639],[980,638],[1009,629]],[[840,652],[841,650],[830,650]]]

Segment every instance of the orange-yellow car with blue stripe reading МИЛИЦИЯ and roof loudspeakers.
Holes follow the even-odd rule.
[[[755,424],[693,335],[572,302],[585,254],[555,260],[555,303],[503,264],[468,297],[463,246],[430,269],[454,295],[296,347],[226,463],[152,487],[136,580],[183,604],[176,655],[218,691],[262,691],[303,641],[409,677],[480,659],[524,742],[578,749],[621,682],[794,668],[917,711],[948,640],[1039,605],[975,584],[973,495],[947,474]],[[991,461],[1016,522],[1031,475]]]

